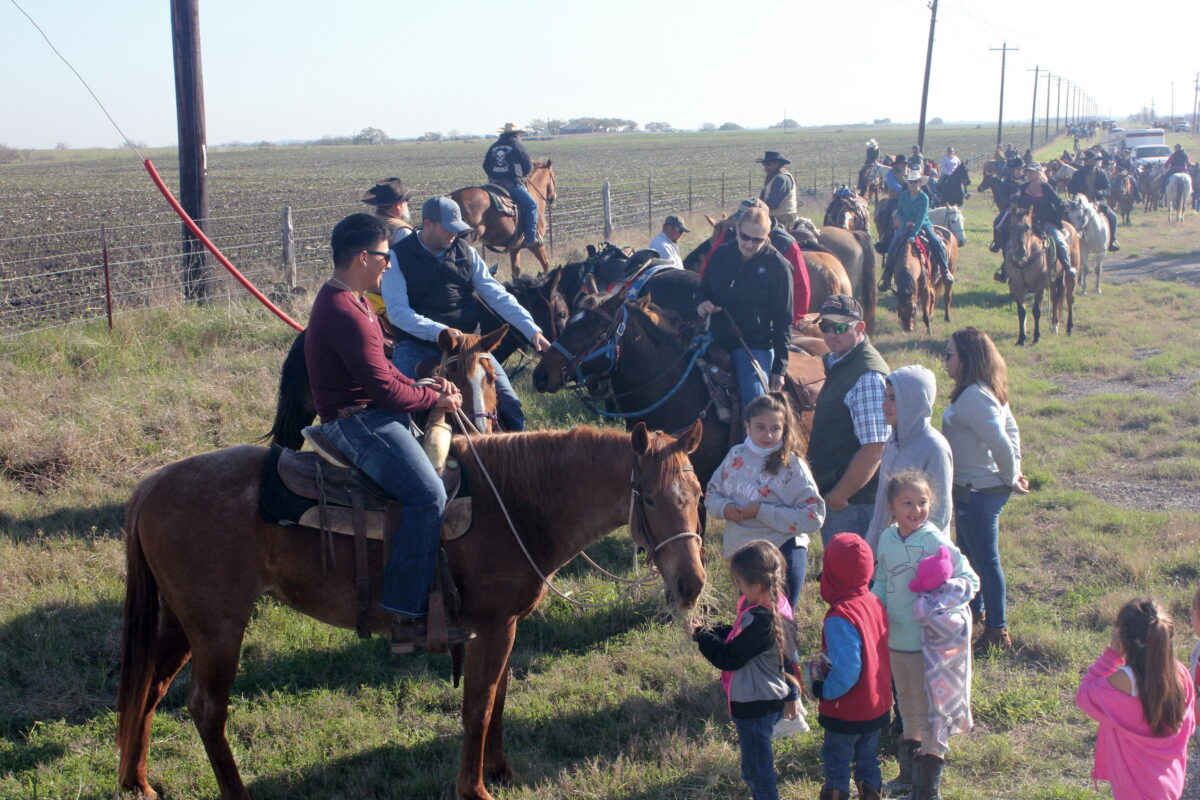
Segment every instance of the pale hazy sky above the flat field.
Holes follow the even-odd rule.
[[[130,138],[175,143],[168,0],[18,2]],[[995,120],[1000,53],[988,48],[1006,40],[1020,48],[1008,55],[1006,119],[1028,119],[1034,65],[1117,115],[1152,98],[1170,113],[1174,80],[1176,114],[1190,114],[1195,36],[1168,44],[1171,31],[1198,30],[1200,4],[1152,5],[1146,17],[1126,8],[943,0],[929,116]],[[1117,35],[1126,16],[1142,35]],[[220,144],[366,126],[397,138],[490,133],[533,118],[680,128],[764,127],[785,112],[802,125],[916,120],[929,11],[922,0],[200,0],[200,31],[209,142]],[[0,144],[118,144],[11,0],[0,0]]]

